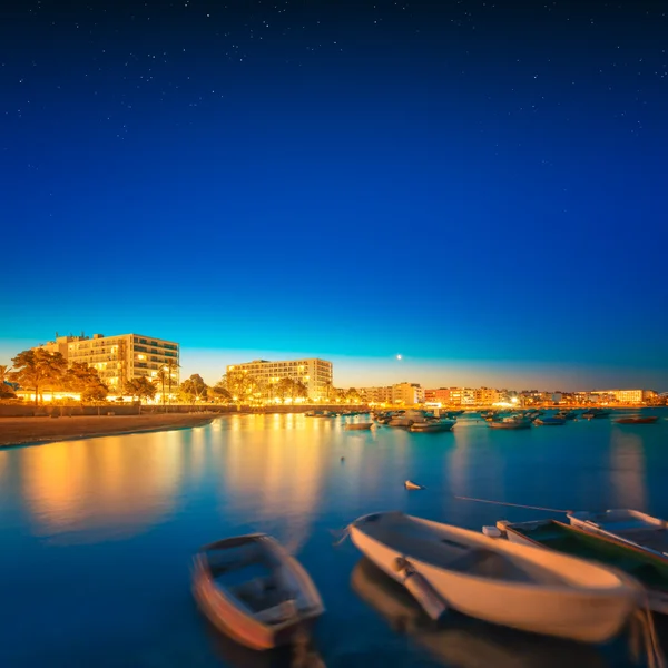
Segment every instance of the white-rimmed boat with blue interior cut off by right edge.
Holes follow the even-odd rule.
[[[668,562],[668,522],[638,510],[606,510],[603,512],[569,512],[573,527],[599,533],[652,552]]]

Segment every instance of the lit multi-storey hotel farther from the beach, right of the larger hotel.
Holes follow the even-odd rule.
[[[254,360],[244,364],[230,365],[227,367],[227,373],[230,371],[245,371],[267,387],[281,379],[297,381],[306,386],[308,399],[313,401],[327,399],[332,387],[332,362],[316,357],[285,362]]]

